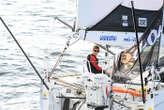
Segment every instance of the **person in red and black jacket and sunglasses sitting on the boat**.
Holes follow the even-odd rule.
[[[105,73],[105,71],[98,65],[98,58],[96,57],[99,53],[99,47],[97,45],[93,46],[92,53],[87,56],[87,68],[89,72],[98,74]],[[110,74],[110,73],[106,73]]]

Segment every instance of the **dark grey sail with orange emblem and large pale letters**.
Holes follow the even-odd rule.
[[[163,8],[161,8],[152,24],[147,28],[140,38],[140,54],[142,69],[150,65],[158,65],[160,39],[162,34]],[[137,44],[121,52],[116,71],[127,76],[136,76],[139,74],[139,61],[137,53]],[[117,73],[116,72],[116,73]],[[131,77],[132,78],[132,77]]]

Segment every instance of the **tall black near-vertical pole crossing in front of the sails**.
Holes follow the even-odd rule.
[[[144,85],[143,85],[143,76],[142,76],[142,64],[141,64],[141,55],[140,55],[140,47],[139,47],[139,39],[138,39],[138,31],[136,26],[136,17],[135,17],[135,10],[134,10],[134,4],[133,1],[131,1],[132,5],[132,17],[133,17],[133,24],[134,24],[134,30],[136,33],[136,43],[137,43],[137,49],[138,49],[138,60],[139,60],[139,66],[140,66],[140,77],[141,77],[141,89],[142,89],[142,100],[143,103],[145,103],[145,96],[144,96]]]

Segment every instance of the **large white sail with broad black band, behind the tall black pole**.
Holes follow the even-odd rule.
[[[82,39],[119,46],[136,41],[131,0],[79,0],[78,26]],[[151,25],[163,0],[133,0],[139,36]],[[146,5],[145,5],[146,4]],[[120,32],[120,33],[119,33]],[[125,32],[128,32],[125,34]],[[130,33],[129,33],[130,32]]]

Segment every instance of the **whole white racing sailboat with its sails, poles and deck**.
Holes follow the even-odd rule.
[[[41,79],[41,110],[162,110],[164,108],[164,67],[159,50],[162,35],[163,0],[78,0],[78,15],[73,26],[58,21],[72,30],[52,71]],[[113,55],[109,76],[94,74],[86,68],[82,74],[55,76],[67,48],[79,40],[96,43]],[[119,53],[110,50],[121,46]],[[162,61],[162,60],[161,60]]]

